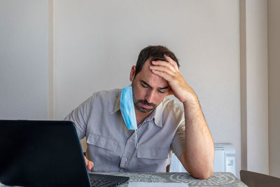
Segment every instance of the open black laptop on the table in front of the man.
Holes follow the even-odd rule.
[[[0,183],[88,187],[117,186],[128,180],[87,172],[76,127],[70,121],[0,120]]]

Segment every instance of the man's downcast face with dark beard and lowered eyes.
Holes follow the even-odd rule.
[[[141,113],[151,113],[170,90],[167,81],[153,74],[150,66],[151,59],[148,59],[132,81],[134,106]]]

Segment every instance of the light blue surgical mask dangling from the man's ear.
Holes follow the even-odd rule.
[[[132,87],[123,88],[120,94],[120,112],[122,113],[125,125],[129,130],[137,130],[137,121],[134,110]]]

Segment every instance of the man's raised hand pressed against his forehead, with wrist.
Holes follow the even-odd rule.
[[[180,74],[177,63],[167,55],[165,55],[165,60],[167,62],[163,60],[152,61],[150,69],[153,74],[164,78],[169,83],[171,87],[169,95],[174,95],[183,103],[188,102],[190,99],[196,100],[195,92]]]

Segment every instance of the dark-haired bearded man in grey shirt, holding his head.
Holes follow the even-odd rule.
[[[173,151],[195,178],[208,179],[214,169],[213,139],[174,53],[163,46],[144,48],[130,71],[130,81],[137,133],[125,126],[120,89],[94,93],[65,118],[76,124],[80,139],[87,138],[87,168],[165,172]],[[174,95],[183,107],[167,95]]]

